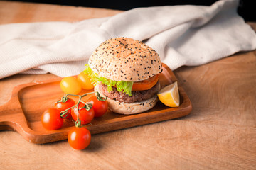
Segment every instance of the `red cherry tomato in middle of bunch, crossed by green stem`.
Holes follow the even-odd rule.
[[[92,121],[94,118],[94,111],[91,108],[89,111],[87,111],[84,107],[84,103],[79,103],[78,107],[74,107],[71,110],[71,115],[72,118],[76,121],[79,115],[79,119],[81,120],[81,125],[86,125]],[[79,108],[79,113],[78,113],[78,108]]]

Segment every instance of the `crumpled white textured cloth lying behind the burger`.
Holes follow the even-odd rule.
[[[144,40],[173,70],[255,50],[255,32],[237,7],[238,0],[223,0],[212,6],[134,8],[76,23],[1,25],[0,79],[21,72],[78,74],[101,42],[122,36]]]

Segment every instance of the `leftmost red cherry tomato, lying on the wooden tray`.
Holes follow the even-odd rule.
[[[60,111],[58,109],[49,108],[43,113],[41,122],[47,130],[58,130],[63,125],[63,118],[60,117]]]

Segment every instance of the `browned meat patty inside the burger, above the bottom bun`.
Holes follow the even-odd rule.
[[[123,92],[117,91],[117,88],[112,87],[112,91],[107,91],[107,85],[100,84],[99,90],[102,94],[105,94],[108,98],[124,103],[134,103],[144,101],[157,94],[160,88],[159,81],[151,89],[144,91],[132,91],[132,96],[124,94]]]

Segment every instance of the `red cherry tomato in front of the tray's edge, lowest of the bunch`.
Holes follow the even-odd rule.
[[[90,131],[87,128],[73,128],[68,132],[68,143],[74,149],[85,149],[91,140]]]

